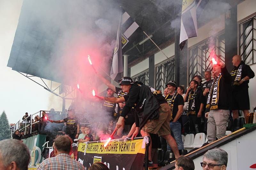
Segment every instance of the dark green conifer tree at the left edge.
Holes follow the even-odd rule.
[[[8,138],[10,138],[10,125],[6,113],[3,110],[0,116],[0,140]]]

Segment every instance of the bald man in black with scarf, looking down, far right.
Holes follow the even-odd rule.
[[[233,119],[238,117],[238,110],[243,110],[244,119],[250,110],[250,100],[248,93],[249,79],[254,77],[254,72],[251,67],[246,65],[240,55],[235,55],[232,59],[234,66],[231,71],[232,77],[232,103],[231,109],[233,112]]]

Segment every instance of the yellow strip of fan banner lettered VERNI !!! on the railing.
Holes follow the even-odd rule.
[[[112,154],[137,154],[137,153],[145,153],[145,149],[142,149],[142,141],[139,140],[130,140],[126,142],[109,142],[106,147],[104,147],[104,143],[79,143],[78,151],[84,152],[86,148],[86,153],[112,153]]]

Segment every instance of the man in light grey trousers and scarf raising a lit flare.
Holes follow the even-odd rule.
[[[210,109],[210,112],[205,113],[208,118],[208,143],[215,141],[216,137],[220,139],[225,136],[231,101],[232,79],[225,64],[215,64],[213,71],[218,76],[213,81],[206,103],[206,109]]]

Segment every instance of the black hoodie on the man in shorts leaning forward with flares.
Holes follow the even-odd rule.
[[[124,96],[124,98],[126,103],[121,116],[125,117],[132,107],[135,107],[137,110],[137,114],[135,114],[136,127],[141,129],[148,119],[159,118],[160,105],[150,88],[142,82],[134,82],[129,90],[129,95]]]

